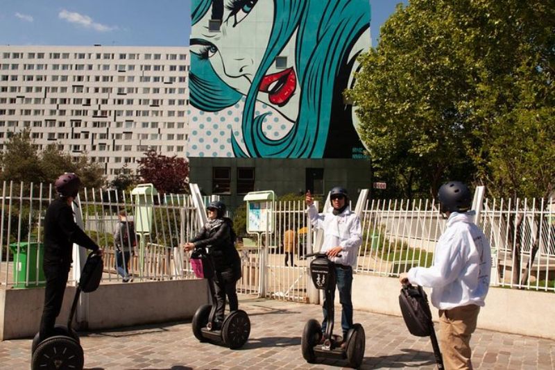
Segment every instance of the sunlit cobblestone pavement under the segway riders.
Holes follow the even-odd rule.
[[[243,298],[250,338],[239,350],[200,343],[190,322],[81,333],[85,369],[340,369],[347,363],[307,364],[300,336],[308,319],[320,319],[317,305]],[[336,311],[336,319],[339,312]],[[400,317],[355,310],[366,330],[361,369],[434,369],[429,338],[409,335]],[[555,369],[555,341],[477,330],[471,342],[476,369]],[[0,342],[0,369],[29,369],[31,339]]]

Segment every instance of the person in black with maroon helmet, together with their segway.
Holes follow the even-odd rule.
[[[43,269],[46,277],[46,289],[40,331],[35,335],[31,348],[33,369],[44,369],[45,367],[49,369],[49,366],[60,368],[62,364],[67,363],[71,363],[67,367],[83,368],[83,349],[80,348],[78,336],[71,329],[71,320],[80,291],[92,292],[98,287],[102,273],[101,256],[103,251],[79,228],[74,220],[71,204],[78,194],[79,187],[80,180],[76,174],[66,173],[60,176],[55,183],[58,199],[52,201],[44,217]],[[55,323],[56,317],[60,314],[67,276],[71,262],[73,262],[71,253],[74,243],[92,249],[93,253],[89,255],[85,263],[83,276],[71,307],[68,325],[65,327],[55,325]],[[91,273],[91,270],[94,272]],[[65,349],[60,352],[58,351],[60,347]]]

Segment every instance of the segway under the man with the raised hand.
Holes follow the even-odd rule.
[[[340,257],[341,255],[338,255]],[[364,346],[366,335],[364,328],[355,323],[349,329],[345,339],[346,346],[341,348],[341,337],[333,334],[334,330],[334,302],[332,301],[332,289],[335,289],[336,274],[335,264],[327,258],[325,253],[310,253],[305,258],[316,257],[310,262],[310,276],[316,289],[325,291],[325,308],[327,310],[327,321],[322,341],[322,327],[315,319],[310,319],[305,325],[300,339],[302,357],[309,363],[316,362],[317,357],[345,360],[353,368],[360,367],[364,359]],[[323,342],[323,344],[321,344]]]

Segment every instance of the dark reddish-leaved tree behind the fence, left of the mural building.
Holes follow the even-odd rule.
[[[148,151],[139,160],[138,174],[144,183],[152,183],[162,194],[187,192],[189,163],[177,155],[168,157],[156,151]]]

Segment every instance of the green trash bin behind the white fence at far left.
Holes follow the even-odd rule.
[[[19,253],[17,246],[19,245]],[[13,287],[44,287],[44,270],[42,269],[42,258],[44,257],[44,245],[37,242],[21,242],[10,244],[13,253],[13,281],[17,282]],[[37,262],[38,259],[38,262]],[[38,278],[37,278],[38,266]],[[28,267],[28,279],[27,279]]]

